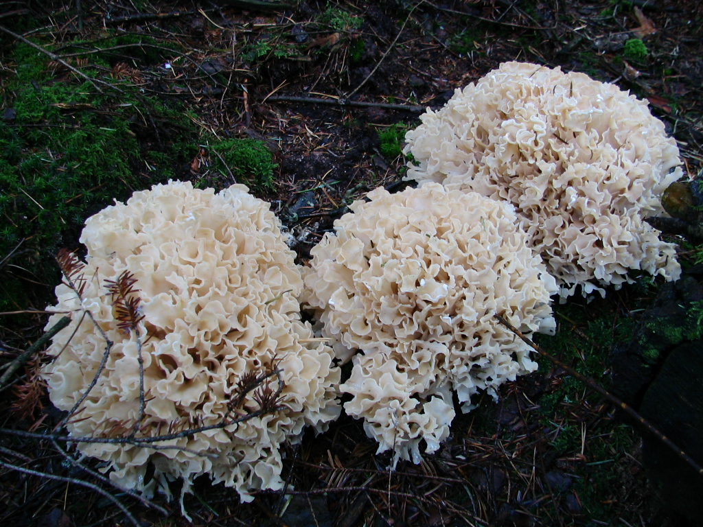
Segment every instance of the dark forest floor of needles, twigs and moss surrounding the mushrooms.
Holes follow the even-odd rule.
[[[347,204],[378,186],[406,184],[402,138],[425,108],[440,108],[508,60],[584,72],[648,100],[678,141],[685,174],[703,167],[698,1],[291,4],[2,2],[0,280],[3,309],[13,314],[0,313],[0,365],[46,325],[41,310],[59,278],[45,249],[77,248],[82,221],[112,197],[169,177],[216,190],[245,183],[272,202],[306,261]],[[66,134],[79,129],[100,149],[70,154],[75,136]],[[227,157],[228,141],[243,138],[262,143]],[[272,152],[272,172],[256,145]],[[48,174],[63,174],[70,155],[82,176],[57,183]],[[105,160],[112,179],[101,172]],[[20,165],[26,186],[2,188],[2,178],[13,177],[8,167]],[[27,212],[35,204],[41,211]],[[682,244],[685,266],[695,256],[696,247]],[[605,299],[572,297],[554,308],[557,336],[539,343],[607,388],[614,345],[638,331],[661,289],[642,278]],[[177,500],[154,498],[169,511],[162,516],[72,467],[51,441],[11,434],[48,434],[62,417],[51,410],[38,364],[30,361],[0,392],[0,521],[128,525],[110,493],[143,524],[188,525]],[[546,360],[503,385],[498,402],[484,396],[458,415],[441,450],[420,464],[389,471],[389,455],[375,449],[361,422],[342,417],[287,448],[283,475],[295,490],[242,503],[202,477],[184,506],[196,526],[685,525],[647,478],[640,431]]]

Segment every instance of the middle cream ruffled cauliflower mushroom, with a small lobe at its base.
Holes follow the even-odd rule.
[[[344,410],[364,419],[379,453],[417,463],[421,441],[432,453],[449,436],[452,391],[468,411],[477,391],[495,397],[536,369],[494,314],[524,332],[553,332],[557,286],[510,204],[437,183],[378,188],[368,199],[311,250],[303,304],[335,355],[353,356]]]

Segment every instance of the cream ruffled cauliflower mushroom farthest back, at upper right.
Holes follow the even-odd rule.
[[[421,119],[406,134],[408,178],[515,205],[562,297],[576,285],[602,293],[633,269],[680,275],[674,245],[643,221],[662,214],[659,199],[682,174],[676,141],[645,101],[586,74],[512,62]]]

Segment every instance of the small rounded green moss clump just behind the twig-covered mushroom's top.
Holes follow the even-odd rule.
[[[238,183],[247,183],[259,190],[273,188],[273,171],[278,165],[273,162],[273,155],[264,141],[225,139],[212,143],[210,148],[219,154],[214,155],[212,161],[214,169],[223,176],[229,176],[231,171]]]

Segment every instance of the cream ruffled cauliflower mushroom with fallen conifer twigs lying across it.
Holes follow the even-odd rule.
[[[44,368],[56,407],[72,408],[103,360],[105,339],[82,310],[114,344],[67,425],[71,436],[130,436],[140,414],[140,346],[146,403],[137,438],[256,412],[262,400],[256,390],[240,408],[229,403],[247,378],[276,367],[280,377],[269,377],[259,395],[266,395],[266,386],[274,395],[280,389],[280,407],[239,424],[150,443],[155,448],[79,443],[79,449],[107,462],[118,485],[147,493],[168,492],[167,482],[177,478],[187,490],[205,473],[236,488],[244,501],[252,500],[252,489],[283,488],[281,445],[298,441],[306,426],[324,431],[338,417],[340,370],[330,347],[300,320],[302,277],[269,204],[245,186],[216,194],[172,182],[92,216],[81,242],[88,253],[83,300],[67,285],[56,288],[56,311],[75,312],[54,337],[54,360]],[[118,327],[105,288],[124,271],[136,278],[143,315],[131,331]],[[155,470],[146,482],[148,464]]]

